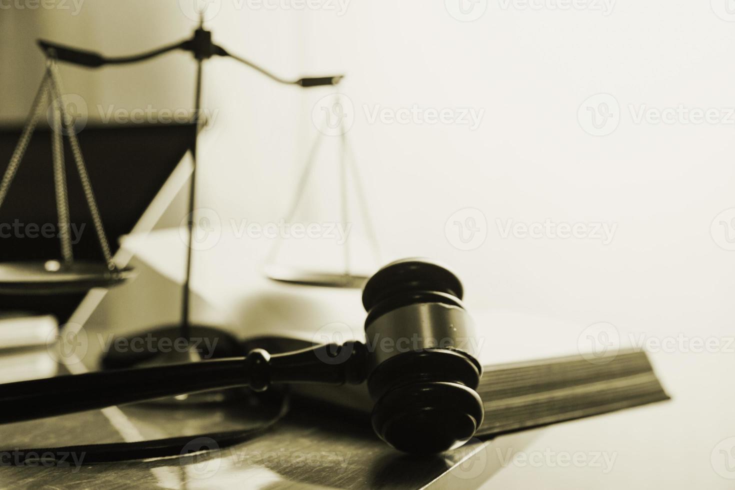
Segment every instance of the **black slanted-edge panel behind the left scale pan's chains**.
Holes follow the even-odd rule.
[[[2,173],[10,162],[20,135],[20,126],[0,128]],[[118,238],[135,226],[191,147],[195,135],[196,125],[193,123],[98,124],[79,132],[79,145],[113,253],[118,249]],[[65,167],[74,257],[102,260],[79,173],[66,138]],[[0,206],[0,261],[59,259],[57,220],[51,132],[48,127],[38,128],[7,198]],[[29,225],[35,228],[29,228]],[[41,233],[42,230],[45,232]],[[33,236],[29,237],[29,234]],[[83,295],[0,295],[0,311],[52,313],[64,322],[82,298]]]

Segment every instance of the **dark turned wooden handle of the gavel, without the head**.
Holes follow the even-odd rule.
[[[359,383],[364,379],[364,356],[365,346],[359,342],[319,345],[276,356],[256,349],[247,357],[1,384],[0,423],[232,386],[261,391],[270,383]]]

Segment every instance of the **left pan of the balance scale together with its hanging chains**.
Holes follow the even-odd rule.
[[[50,53],[49,53],[50,54]],[[37,125],[41,108],[51,98],[53,120],[51,122],[51,154],[54,162],[54,184],[56,190],[56,206],[61,245],[61,260],[49,259],[45,262],[4,262],[0,263],[0,293],[6,295],[65,295],[87,292],[93,287],[113,287],[132,278],[132,269],[120,269],[112,260],[110,243],[104,233],[102,218],[92,190],[87,167],[76,139],[71,115],[66,114],[61,98],[61,80],[53,57],[46,62],[38,92],[33,101],[31,112],[21,133],[21,139],[15,145],[10,163],[0,181],[0,206],[7,197],[10,184],[21,165],[26,148]],[[50,97],[49,97],[50,96]],[[75,261],[69,234],[68,192],[66,187],[66,168],[64,163],[63,134],[67,134],[76,170],[82,181],[87,206],[97,239],[104,257],[104,262]]]

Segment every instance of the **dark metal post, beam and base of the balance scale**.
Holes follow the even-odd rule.
[[[320,87],[336,85],[340,82],[343,76],[322,76],[312,78],[301,78],[298,80],[287,80],[282,79],[279,76],[270,73],[264,68],[255,65],[254,63],[245,60],[241,57],[237,57],[234,54],[229,53],[221,46],[212,43],[212,33],[204,29],[204,19],[201,18],[198,28],[194,31],[193,36],[190,39],[183,40],[177,43],[173,43],[161,48],[154,49],[152,51],[146,51],[141,54],[134,54],[126,57],[104,57],[93,51],[83,51],[76,48],[70,48],[68,46],[62,46],[57,43],[50,43],[49,41],[39,40],[39,46],[46,51],[46,53],[52,54],[55,60],[62,62],[69,62],[75,65],[85,66],[87,68],[99,68],[104,65],[123,65],[135,62],[141,62],[144,60],[150,60],[151,58],[158,57],[161,54],[168,53],[170,51],[189,51],[193,54],[196,60],[196,89],[194,96],[194,117],[196,118],[197,134],[192,144],[192,156],[193,156],[193,169],[190,179],[189,188],[189,202],[188,202],[188,216],[187,216],[187,228],[188,228],[188,247],[187,247],[187,258],[186,258],[186,273],[184,275],[184,284],[182,286],[182,313],[181,320],[178,325],[167,325],[161,328],[157,328],[152,335],[158,338],[172,337],[172,339],[184,338],[190,340],[193,336],[197,338],[216,338],[217,352],[213,353],[214,357],[226,357],[226,356],[240,356],[240,342],[234,338],[231,334],[221,331],[218,328],[207,327],[205,325],[193,325],[190,320],[190,280],[191,280],[191,269],[192,269],[192,251],[193,251],[193,227],[194,227],[194,213],[196,203],[196,170],[197,170],[197,140],[198,140],[198,129],[201,128],[201,93],[202,93],[202,66],[204,60],[208,60],[212,56],[229,57],[233,60],[243,63],[250,68],[262,73],[269,79],[280,84],[298,85],[300,87]],[[191,342],[190,342],[191,345]],[[211,345],[211,344],[210,344]],[[110,352],[102,360],[103,367],[106,368],[122,368],[132,367],[140,364],[160,364],[162,362],[180,362],[180,361],[191,361],[200,359],[200,353],[190,348],[185,353],[172,353],[172,356],[168,356],[169,359],[163,359],[159,353],[142,353],[140,355],[125,353]]]

